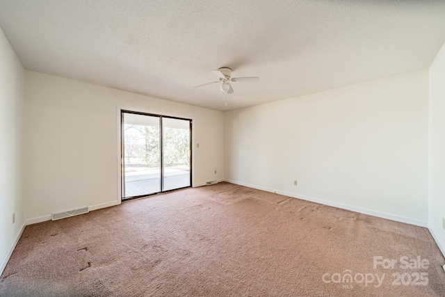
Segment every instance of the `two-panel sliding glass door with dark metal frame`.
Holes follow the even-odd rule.
[[[122,111],[122,200],[191,186],[191,120]]]

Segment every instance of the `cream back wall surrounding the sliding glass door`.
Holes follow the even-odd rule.
[[[120,200],[118,106],[192,118],[193,185],[223,179],[222,112],[26,71],[28,223]]]

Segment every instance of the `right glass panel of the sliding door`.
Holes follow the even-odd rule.
[[[162,118],[163,191],[191,186],[191,121]]]

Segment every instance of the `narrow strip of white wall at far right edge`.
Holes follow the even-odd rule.
[[[429,227],[445,255],[445,45],[430,67]]]

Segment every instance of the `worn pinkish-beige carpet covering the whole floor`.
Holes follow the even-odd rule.
[[[444,264],[426,228],[220,183],[26,227],[0,295],[445,296]]]

